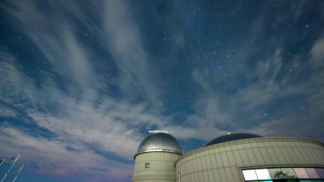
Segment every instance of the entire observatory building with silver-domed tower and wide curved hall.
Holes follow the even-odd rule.
[[[184,154],[171,132],[151,132],[134,156],[134,182],[324,182],[324,144],[315,140],[227,133]]]

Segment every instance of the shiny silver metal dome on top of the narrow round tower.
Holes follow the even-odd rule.
[[[181,144],[172,135],[164,132],[158,132],[147,136],[138,147],[137,155],[145,152],[171,152],[183,155]]]

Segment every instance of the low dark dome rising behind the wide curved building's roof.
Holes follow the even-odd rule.
[[[205,145],[205,147],[215,145],[215,144],[220,144],[223,142],[230,142],[230,141],[243,140],[243,139],[253,139],[253,138],[260,138],[260,137],[263,136],[257,134],[250,134],[250,133],[227,133],[225,135],[219,136],[216,139],[210,141],[208,144]]]

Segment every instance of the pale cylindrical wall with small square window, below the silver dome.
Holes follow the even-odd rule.
[[[175,161],[181,157],[170,152],[147,152],[136,156],[132,181],[175,182]],[[149,168],[145,164],[149,163]]]

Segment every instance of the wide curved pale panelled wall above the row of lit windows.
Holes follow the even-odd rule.
[[[244,181],[241,169],[324,167],[324,145],[301,138],[255,138],[204,147],[180,157],[181,181]]]

